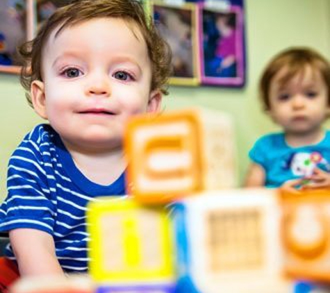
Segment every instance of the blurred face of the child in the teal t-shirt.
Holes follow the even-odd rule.
[[[304,135],[319,131],[329,115],[328,90],[320,72],[306,67],[283,85],[282,69],[270,85],[270,116],[286,133]]]

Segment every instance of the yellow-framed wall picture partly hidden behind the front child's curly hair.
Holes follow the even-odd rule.
[[[154,23],[172,49],[172,85],[199,84],[198,11],[192,3],[154,1]]]

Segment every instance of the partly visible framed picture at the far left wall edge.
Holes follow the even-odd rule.
[[[33,37],[33,0],[0,1],[0,72],[18,74],[17,46]]]

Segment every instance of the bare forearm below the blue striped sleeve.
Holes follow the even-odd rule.
[[[9,232],[9,237],[21,276],[64,275],[49,233],[17,228]]]

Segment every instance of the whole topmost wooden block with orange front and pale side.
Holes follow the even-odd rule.
[[[201,190],[235,185],[229,115],[205,109],[131,119],[124,149],[129,193],[144,203],[167,203]]]

